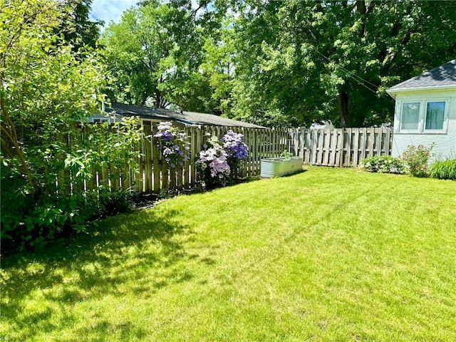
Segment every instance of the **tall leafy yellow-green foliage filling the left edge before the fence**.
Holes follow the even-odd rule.
[[[84,190],[93,170],[134,167],[132,147],[142,131],[135,119],[115,127],[84,123],[99,110],[105,77],[93,49],[75,50],[66,41],[71,4],[3,4],[1,239],[24,249],[84,229],[100,206],[100,197]]]

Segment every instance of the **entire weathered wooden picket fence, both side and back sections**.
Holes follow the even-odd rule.
[[[170,168],[157,148],[157,138],[153,137],[155,130],[155,126],[144,125],[146,138],[137,146],[132,147],[139,150],[142,155],[137,169],[130,169],[128,165],[95,167],[90,170],[93,177],[83,185],[83,188],[87,190],[99,185],[110,185],[111,190],[123,187],[123,189],[134,192],[154,193],[170,189],[191,189],[199,181],[195,162],[207,139],[211,135],[222,138],[228,130],[242,133],[244,141],[249,147],[249,156],[242,168],[238,170],[241,177],[260,175],[261,159],[279,157],[284,150],[289,150],[294,152],[294,155],[302,157],[305,164],[356,166],[366,157],[389,155],[392,140],[390,128],[269,130],[209,125],[187,127],[184,131],[190,141],[190,160],[185,162],[182,167]],[[88,132],[90,132],[90,128],[84,128],[83,136]],[[68,141],[68,143],[71,142]],[[63,177],[67,176],[71,183],[71,175],[69,173],[63,175]],[[59,182],[59,180],[57,181]],[[74,187],[73,190],[75,190]]]

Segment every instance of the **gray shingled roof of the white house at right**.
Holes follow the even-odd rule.
[[[423,88],[456,88],[456,59],[433,68],[420,76],[410,78],[407,81],[396,84],[389,88],[391,93],[394,90],[413,90]]]

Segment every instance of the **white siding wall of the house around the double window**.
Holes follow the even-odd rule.
[[[403,133],[400,132],[400,110],[402,103],[426,100],[447,101],[447,125],[445,133]],[[435,143],[432,153],[436,160],[456,158],[456,90],[411,90],[396,94],[394,115],[393,147],[391,154],[402,155],[408,145],[431,145]],[[423,125],[423,123],[422,123]]]

